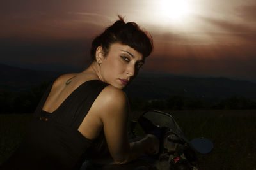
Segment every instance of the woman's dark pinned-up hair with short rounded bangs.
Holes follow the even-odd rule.
[[[153,40],[147,31],[143,31],[135,22],[124,22],[124,18],[118,15],[113,25],[107,27],[105,31],[97,36],[92,42],[90,55],[95,60],[95,52],[98,46],[102,46],[104,55],[108,55],[109,47],[113,43],[128,45],[143,55],[148,57],[153,49]]]

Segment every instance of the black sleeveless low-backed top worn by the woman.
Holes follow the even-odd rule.
[[[108,84],[86,81],[77,87],[52,113],[42,111],[53,82],[44,93],[28,131],[5,169],[79,169],[86,157],[106,149],[104,134],[92,141],[77,129],[93,102]],[[104,150],[103,149],[103,150]],[[97,153],[98,152],[98,153]]]

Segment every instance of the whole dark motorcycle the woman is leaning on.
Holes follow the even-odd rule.
[[[212,141],[206,138],[195,138],[189,142],[169,113],[146,111],[138,121],[130,123],[130,138],[138,138],[135,128],[139,124],[146,134],[154,134],[159,138],[159,153],[153,156],[143,155],[138,160],[124,165],[106,164],[96,167],[93,164],[86,169],[197,170],[196,152],[206,154],[213,148]]]

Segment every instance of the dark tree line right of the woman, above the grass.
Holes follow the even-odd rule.
[[[243,96],[232,96],[219,102],[212,99],[170,96],[166,99],[130,99],[132,110],[246,110],[256,109],[256,101]]]

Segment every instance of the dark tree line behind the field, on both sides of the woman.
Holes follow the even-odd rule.
[[[0,92],[0,113],[33,113],[49,82],[40,83],[26,92]],[[131,110],[246,110],[256,109],[256,101],[234,95],[216,99],[169,96],[164,99],[129,97]]]

